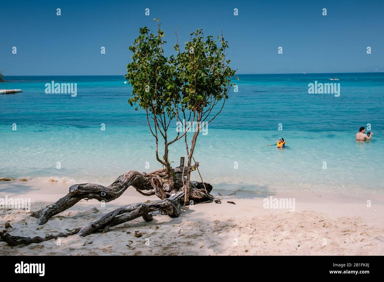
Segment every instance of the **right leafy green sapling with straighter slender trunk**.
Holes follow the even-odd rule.
[[[208,36],[204,41],[202,30],[191,33],[189,42],[185,42],[185,51],[177,56],[177,72],[182,78],[182,102],[196,116],[196,127],[190,140],[190,146],[185,135],[185,146],[188,156],[187,183],[185,187],[185,203],[189,202],[189,184],[191,175],[191,161],[196,145],[197,136],[202,130],[202,124],[207,126],[222,111],[228,92],[234,85],[235,70],[229,67],[230,60],[226,59],[225,49],[228,42],[217,36],[217,41]],[[217,112],[214,107],[222,102]]]

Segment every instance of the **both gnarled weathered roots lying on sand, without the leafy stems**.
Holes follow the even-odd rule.
[[[198,166],[199,163],[195,163],[195,165],[192,166],[192,170],[195,170]],[[121,196],[129,186],[133,186],[136,191],[142,195],[156,195],[161,200],[153,201],[152,203],[136,203],[122,206],[91,221],[85,226],[77,227],[67,233],[51,234],[45,237],[21,237],[12,236],[7,233],[6,230],[3,230],[0,232],[0,241],[7,242],[9,246],[40,243],[75,234],[84,237],[100,229],[105,233],[112,226],[125,223],[140,216],[142,216],[145,221],[151,221],[152,213],[161,213],[167,214],[170,217],[177,217],[180,214],[181,206],[184,206],[185,186],[183,185],[183,178],[186,170],[187,167],[172,169],[174,173],[173,189],[167,178],[167,172],[164,169],[151,173],[139,173],[131,170],[120,175],[107,187],[91,183],[72,185],[66,196],[56,201],[56,203],[50,204],[46,206],[46,208],[31,214],[31,216],[37,218],[38,225],[46,223],[50,217],[65,211],[82,199],[96,199],[104,202],[113,201]],[[185,178],[184,182],[186,182]],[[196,203],[212,201],[214,197],[209,194],[210,191],[212,191],[212,185],[198,181],[190,181],[189,199]]]

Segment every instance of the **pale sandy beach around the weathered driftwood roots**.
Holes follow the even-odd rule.
[[[0,198],[31,198],[31,211],[66,195],[70,183],[0,181]],[[213,190],[213,195],[217,195]],[[228,195],[230,191],[220,191]],[[295,211],[265,209],[263,198],[238,191],[221,204],[195,204],[179,218],[156,215],[87,237],[52,239],[40,244],[10,247],[0,242],[1,255],[382,255],[384,253],[384,200],[382,195],[361,199],[333,196],[273,195],[295,198]],[[103,213],[129,203],[158,200],[129,188],[105,203],[82,200],[38,226],[23,209],[0,209],[0,230],[5,223],[12,235],[34,237],[83,226]],[[372,206],[367,207],[367,200]],[[233,201],[236,204],[227,203]],[[135,237],[135,231],[142,237]]]

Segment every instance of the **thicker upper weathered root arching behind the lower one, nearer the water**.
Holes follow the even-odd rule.
[[[199,163],[196,163],[196,167]],[[194,169],[194,168],[192,168]],[[31,213],[30,216],[37,218],[37,224],[42,225],[48,221],[48,218],[65,211],[80,200],[96,199],[98,201],[109,202],[113,201],[124,193],[129,187],[133,186],[136,191],[142,195],[151,196],[156,195],[160,199],[169,198],[170,195],[182,191],[184,189],[182,184],[182,168],[174,168],[174,189],[172,190],[167,182],[167,173],[165,170],[156,170],[151,173],[139,173],[134,170],[120,175],[111,185],[105,187],[99,184],[82,183],[72,185],[69,193],[60,198],[56,203],[46,206]],[[184,167],[184,175],[186,175],[187,167]],[[185,180],[184,180],[185,181]],[[212,185],[205,183],[208,193],[212,190]],[[144,192],[148,191],[148,192]],[[212,195],[205,193],[204,185],[202,182],[190,182],[190,200],[194,202],[212,200]]]

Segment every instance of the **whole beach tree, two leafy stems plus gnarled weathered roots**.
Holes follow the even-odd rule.
[[[156,21],[157,22],[157,21]],[[190,182],[190,173],[192,171],[191,159],[201,129],[201,122],[209,120],[210,123],[223,109],[225,100],[228,99],[228,91],[233,85],[232,76],[235,71],[229,68],[230,60],[225,59],[225,48],[228,46],[223,37],[220,40],[221,47],[216,46],[216,42],[209,36],[206,41],[203,40],[201,30],[197,30],[194,38],[186,43],[187,52],[180,52],[179,44],[175,45],[178,55],[175,58],[170,56],[166,58],[163,55],[162,46],[165,41],[162,40],[164,33],[158,25],[157,35],[149,33],[148,28],[140,29],[140,36],[130,46],[133,52],[133,62],[127,65],[126,79],[132,84],[133,91],[129,103],[138,104],[138,107],[146,110],[147,121],[152,135],[156,138],[156,158],[165,166],[165,170],[156,170],[152,173],[139,173],[134,170],[123,173],[111,185],[103,186],[93,183],[75,184],[70,187],[69,193],[56,201],[56,203],[46,206],[46,208],[35,211],[30,216],[38,218],[39,225],[45,224],[48,218],[65,211],[81,199],[95,199],[103,202],[113,201],[124,191],[133,186],[142,195],[157,195],[161,201],[146,203],[136,203],[120,207],[111,211],[107,216],[95,219],[91,223],[81,228],[76,228],[68,233],[59,233],[46,237],[20,237],[11,236],[8,233],[0,232],[0,241],[7,242],[10,246],[20,244],[29,244],[43,242],[57,237],[67,237],[74,234],[87,236],[93,231],[103,229],[108,231],[112,226],[130,221],[142,216],[144,220],[152,220],[152,212],[166,212],[170,217],[177,217],[180,214],[182,202],[188,202],[189,197],[194,201],[213,200],[214,197],[209,194],[212,185],[198,181]],[[209,117],[212,109],[223,101],[218,112]],[[136,107],[137,109],[137,107]],[[177,136],[168,142],[168,128],[172,119],[180,116],[184,119],[189,115],[197,117],[197,129],[192,135],[192,141],[187,142],[187,132]],[[188,121],[189,122],[189,121]],[[158,133],[164,139],[164,157],[162,160],[158,155]],[[185,145],[188,155],[187,183],[184,184],[184,167],[182,169],[172,170],[168,159],[168,147],[173,142],[185,137]],[[194,167],[197,168],[197,165]],[[175,176],[172,175],[175,173]],[[159,178],[169,178],[169,183]],[[173,178],[174,189],[171,186]],[[164,183],[165,182],[165,183]],[[160,185],[159,185],[160,184]],[[169,185],[170,189],[163,189]],[[204,186],[204,189],[202,188]],[[155,192],[146,193],[143,191],[155,189]],[[184,193],[181,191],[185,189]],[[190,195],[189,195],[189,192]],[[184,196],[187,195],[187,196]],[[120,215],[120,216],[116,216]]]

